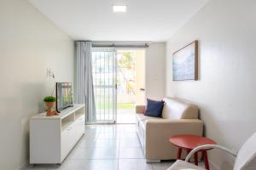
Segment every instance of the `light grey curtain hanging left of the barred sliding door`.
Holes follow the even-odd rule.
[[[96,122],[92,79],[91,42],[76,42],[76,103],[85,104],[85,122]]]

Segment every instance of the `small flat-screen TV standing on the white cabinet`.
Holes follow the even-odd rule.
[[[71,82],[56,82],[56,111],[73,107],[73,93]]]

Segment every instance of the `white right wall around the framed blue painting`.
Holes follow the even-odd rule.
[[[256,129],[255,7],[253,0],[209,1],[167,42],[166,94],[199,105],[207,137],[234,150]],[[172,82],[172,53],[196,39],[199,81]],[[228,170],[224,157],[211,155]]]

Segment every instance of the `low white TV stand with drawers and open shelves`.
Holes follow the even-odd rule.
[[[59,116],[41,113],[30,120],[30,163],[61,164],[84,134],[84,105],[73,105]]]

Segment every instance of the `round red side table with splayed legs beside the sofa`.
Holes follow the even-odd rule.
[[[204,145],[204,144],[216,144],[212,139],[207,139],[201,136],[195,136],[195,135],[177,135],[177,136],[172,136],[169,141],[176,145],[178,150],[177,150],[177,159],[181,158],[182,150],[186,150],[187,153],[191,150],[194,150],[197,146]],[[209,167],[209,161],[208,161],[208,156],[207,156],[207,150],[212,150],[206,149],[206,150],[200,150],[202,152],[202,156],[204,158],[205,162],[205,167],[207,170],[210,169]],[[198,154],[195,152],[194,154],[194,160],[195,160],[195,165],[198,165]]]

